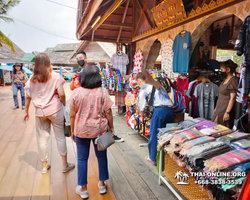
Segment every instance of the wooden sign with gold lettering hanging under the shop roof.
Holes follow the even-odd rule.
[[[182,0],[164,0],[151,11],[157,27],[173,24],[186,17]]]

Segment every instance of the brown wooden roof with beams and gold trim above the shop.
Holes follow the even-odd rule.
[[[175,28],[243,0],[182,0],[186,16],[157,27],[152,8],[165,0],[79,0],[77,38],[88,41],[130,43]],[[172,0],[175,2],[176,0]],[[197,14],[198,13],[198,14]]]

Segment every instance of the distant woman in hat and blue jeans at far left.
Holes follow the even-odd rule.
[[[21,98],[22,98],[22,109],[25,109],[25,92],[24,86],[28,80],[27,74],[23,71],[23,65],[21,63],[16,63],[13,66],[13,99],[14,99],[14,109],[19,108],[18,103],[18,90],[20,90]]]

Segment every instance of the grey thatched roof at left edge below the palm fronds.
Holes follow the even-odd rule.
[[[0,46],[0,62],[13,63],[20,62],[21,58],[25,55],[25,52],[19,48],[14,42],[12,42],[15,53],[12,52],[11,48],[2,44]]]

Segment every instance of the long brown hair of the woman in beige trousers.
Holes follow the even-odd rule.
[[[46,83],[51,77],[51,63],[49,56],[45,53],[40,53],[35,58],[35,67],[33,76],[30,81],[33,83]]]

